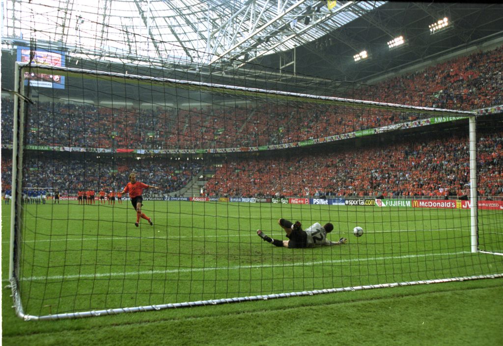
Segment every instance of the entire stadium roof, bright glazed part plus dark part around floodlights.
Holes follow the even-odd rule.
[[[238,84],[254,76],[261,85],[300,91],[373,82],[384,72],[428,63],[503,33],[500,4],[327,5],[319,0],[4,0],[2,43],[13,49],[36,40],[38,47],[65,51],[67,61],[125,63],[138,73],[138,68],[166,68],[188,79],[218,76]],[[430,35],[428,25],[444,16],[452,18],[452,30]],[[401,34],[407,47],[390,52],[386,42]],[[353,56],[363,50],[369,59],[357,65]]]

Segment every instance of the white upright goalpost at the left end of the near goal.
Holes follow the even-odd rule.
[[[11,206],[11,239],[9,250],[9,280],[15,277],[15,244],[16,235],[20,227],[21,193],[22,193],[22,167],[23,165],[23,136],[24,136],[24,100],[20,97],[23,92],[24,77],[21,74],[21,66],[16,62],[14,71],[14,134],[13,134],[13,157],[12,157],[12,206]]]

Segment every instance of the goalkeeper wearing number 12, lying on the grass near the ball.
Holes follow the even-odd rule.
[[[328,240],[326,235],[333,229],[333,225],[329,222],[324,226],[316,222],[305,230],[302,229],[302,225],[299,221],[292,223],[285,219],[279,219],[278,224],[285,230],[286,237],[289,240],[273,239],[265,235],[260,229],[257,230],[257,234],[259,237],[275,246],[288,248],[341,245],[348,241],[348,239],[344,237],[339,239],[339,241]]]

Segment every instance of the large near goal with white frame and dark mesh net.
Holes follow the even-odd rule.
[[[355,83],[334,97],[322,84],[298,93],[155,67],[17,66],[3,166],[26,319],[503,273],[500,108],[449,110],[438,107],[450,95]],[[44,75],[64,89],[31,84]],[[119,196],[132,172],[159,188],[143,191],[144,218]],[[36,188],[47,203],[23,204]],[[329,222],[327,239],[347,240],[287,248],[258,236],[292,241],[281,218]]]

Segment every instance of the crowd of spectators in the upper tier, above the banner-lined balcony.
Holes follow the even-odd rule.
[[[457,57],[377,85],[354,85],[344,98],[473,110],[503,104],[503,47]],[[2,142],[12,142],[12,100],[2,100]],[[209,149],[291,143],[429,118],[427,113],[323,103],[109,108],[36,102],[27,143],[92,148]]]

